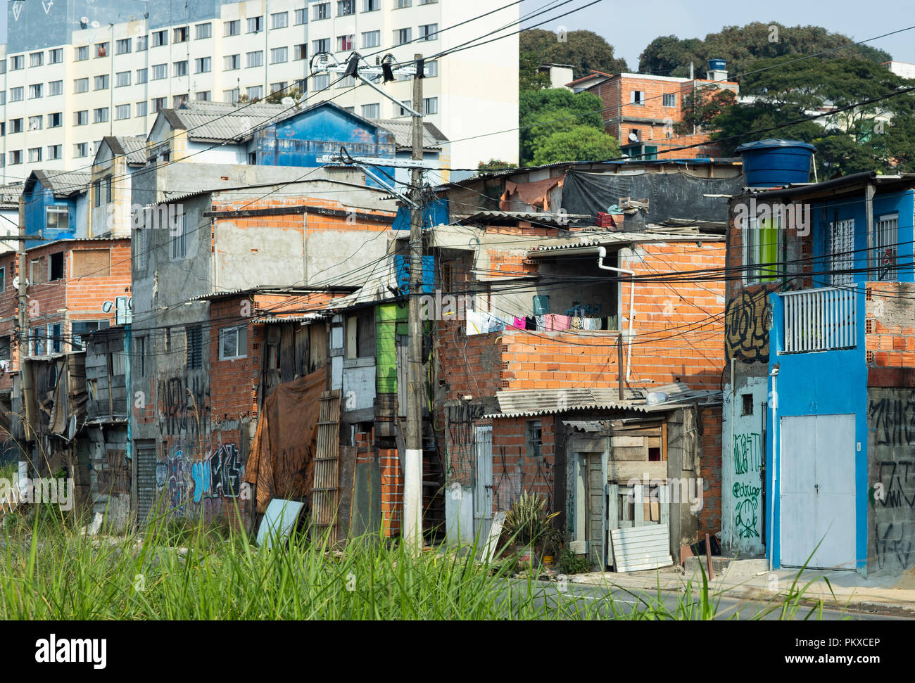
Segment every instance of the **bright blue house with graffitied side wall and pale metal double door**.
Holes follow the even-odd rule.
[[[915,175],[767,185],[730,200],[723,546],[898,575],[915,566]]]

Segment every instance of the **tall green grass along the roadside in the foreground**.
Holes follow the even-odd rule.
[[[665,607],[633,609],[609,589],[512,578],[517,562],[473,553],[412,554],[380,537],[342,547],[296,535],[274,550],[246,534],[180,518],[143,534],[86,537],[54,507],[10,515],[0,530],[0,619],[697,619],[715,615],[707,582]],[[784,600],[798,602],[798,592]],[[801,592],[802,594],[802,592]]]

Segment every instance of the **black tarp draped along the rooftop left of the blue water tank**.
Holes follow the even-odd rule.
[[[563,185],[568,213],[597,216],[619,197],[648,199],[648,222],[667,219],[727,220],[727,197],[744,186],[744,176],[699,178],[686,173],[586,173],[569,171]],[[627,221],[628,222],[628,221]]]

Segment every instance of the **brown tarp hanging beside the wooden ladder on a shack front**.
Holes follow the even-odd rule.
[[[318,410],[327,371],[324,368],[279,384],[264,401],[244,480],[255,485],[257,511],[273,498],[308,496],[314,481]]]

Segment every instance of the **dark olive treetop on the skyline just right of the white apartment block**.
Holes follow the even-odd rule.
[[[587,76],[592,70],[609,74],[629,70],[626,60],[614,57],[613,46],[594,31],[569,31],[560,36],[543,28],[532,28],[522,31],[519,42],[520,53],[531,53],[536,66],[568,64],[576,79]]]

